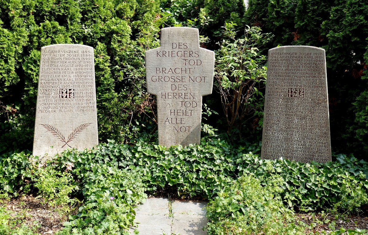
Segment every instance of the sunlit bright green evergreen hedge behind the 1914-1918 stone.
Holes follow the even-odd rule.
[[[120,66],[144,60],[143,54],[127,48],[137,45],[137,35],[158,36],[159,5],[160,1],[150,0],[1,1],[1,143],[31,149],[40,48],[58,43],[95,48],[100,140],[124,141],[123,129],[133,128],[132,116],[149,112],[150,106],[145,102],[145,83],[127,79]],[[150,49],[154,40],[146,42],[144,49]],[[142,64],[131,66],[140,69]],[[144,73],[137,77],[144,80]]]

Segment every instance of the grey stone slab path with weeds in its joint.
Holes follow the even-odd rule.
[[[169,201],[167,198],[149,198],[135,209],[139,235],[206,235],[208,222],[206,204],[196,201]]]

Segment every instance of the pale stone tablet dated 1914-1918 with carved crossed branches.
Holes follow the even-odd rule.
[[[33,155],[98,144],[93,48],[41,49]]]

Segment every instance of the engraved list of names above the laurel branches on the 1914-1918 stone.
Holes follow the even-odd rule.
[[[93,66],[93,49],[44,50],[37,112],[95,112]]]

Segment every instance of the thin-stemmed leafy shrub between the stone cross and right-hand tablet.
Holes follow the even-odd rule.
[[[263,119],[264,97],[260,90],[266,84],[267,58],[261,52],[272,35],[262,34],[259,27],[246,26],[245,37],[237,39],[234,26],[232,22],[225,24],[226,39],[215,51],[215,87],[221,97],[227,134],[233,136],[236,131],[241,138],[246,123],[254,122],[254,129],[262,128],[257,120]]]

